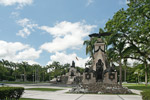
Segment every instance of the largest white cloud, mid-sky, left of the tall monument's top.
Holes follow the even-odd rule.
[[[52,42],[44,43],[41,49],[50,53],[63,51],[68,48],[77,49],[83,45],[83,39],[95,27],[95,25],[86,25],[83,22],[71,23],[67,21],[57,23],[54,27],[41,26],[41,30],[45,30],[54,38]]]

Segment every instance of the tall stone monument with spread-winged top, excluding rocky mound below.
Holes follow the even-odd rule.
[[[94,44],[94,59],[91,68],[86,68],[83,74],[83,83],[90,84],[95,82],[117,83],[117,72],[114,66],[110,66],[105,54],[105,43],[102,41],[102,36],[108,36],[110,33],[93,33],[89,37],[97,38]]]

